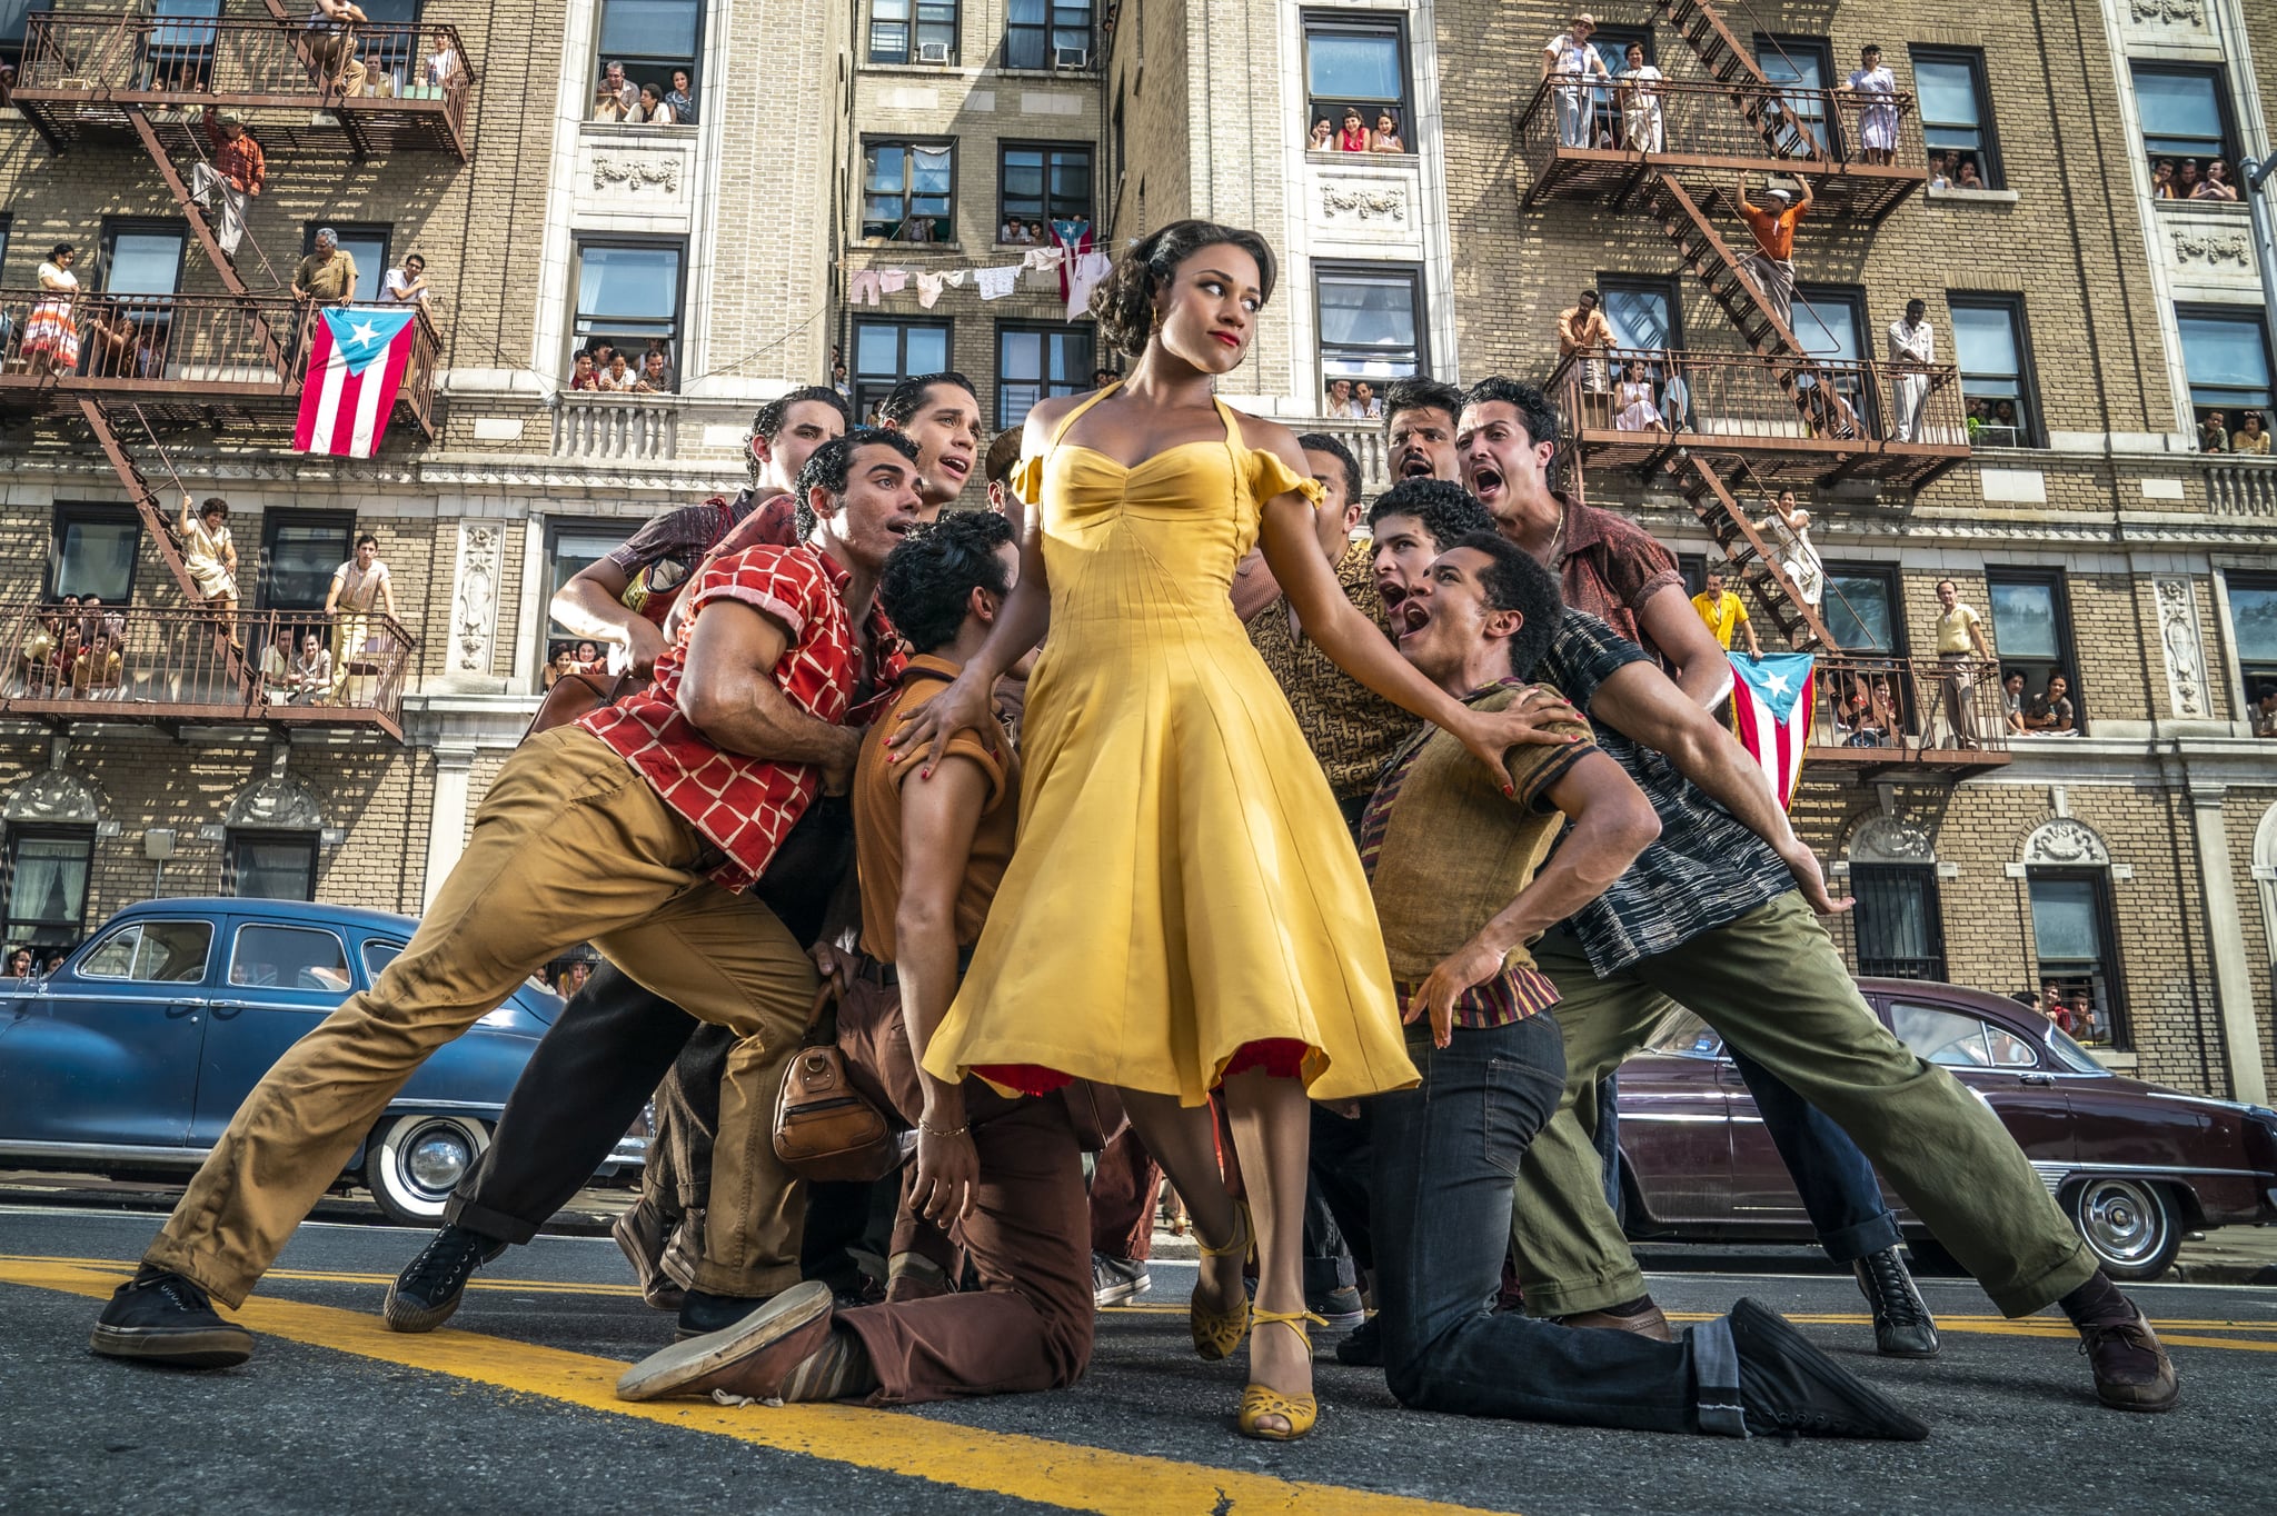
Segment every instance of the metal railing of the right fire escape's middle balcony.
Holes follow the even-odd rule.
[[[1624,394],[1624,382],[1646,385],[1649,403],[1639,389]],[[1951,364],[1610,348],[1594,362],[1580,353],[1557,360],[1544,387],[1576,435],[1970,444],[1960,373]]]

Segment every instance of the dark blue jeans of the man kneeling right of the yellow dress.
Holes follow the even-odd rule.
[[[1701,1430],[1694,1343],[1712,1352],[1708,1338],[1724,1334],[1717,1345],[1728,1363],[1724,1320],[1683,1343],[1655,1343],[1491,1311],[1519,1161],[1564,1093],[1557,1022],[1457,1027],[1448,1047],[1409,1043],[1407,1052],[1423,1084],[1373,1102],[1375,1277],[1391,1393],[1419,1411]]]

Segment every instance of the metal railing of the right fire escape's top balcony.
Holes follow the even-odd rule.
[[[1519,114],[1519,153],[1537,171],[1557,153],[1776,159],[1819,173],[1879,162],[1922,168],[1929,162],[1913,96],[1705,80],[1649,80],[1624,89],[1621,75],[1612,84],[1587,86],[1542,80]]]

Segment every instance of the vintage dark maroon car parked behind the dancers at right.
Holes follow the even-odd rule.
[[[1860,979],[1874,1013],[1976,1090],[2120,1279],[2156,1279],[2186,1231],[2277,1220],[2277,1111],[2102,1068],[1997,995]],[[1624,1220],[1637,1238],[1810,1241],[1803,1202],[1721,1038],[1690,1011],[1621,1065]],[[1929,1231],[1883,1186],[1922,1250]]]

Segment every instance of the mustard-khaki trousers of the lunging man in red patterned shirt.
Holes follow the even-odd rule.
[[[143,1261],[244,1302],[428,1054],[592,940],[656,995],[742,1038],[720,1095],[697,1286],[772,1295],[797,1284],[806,1193],[776,1161],[772,1127],[815,972],[763,904],[692,872],[701,854],[599,738],[567,726],[524,742],[410,947],[246,1095]]]

